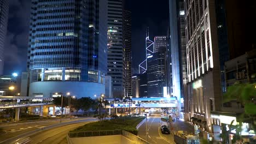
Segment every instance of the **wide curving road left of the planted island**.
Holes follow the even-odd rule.
[[[7,133],[0,135],[0,143],[15,143],[13,142],[13,140],[22,141],[24,139],[27,139],[27,137],[30,137],[29,139],[31,139],[31,141],[32,140],[35,141],[36,143],[40,141],[44,142],[45,140],[49,141],[50,139],[58,141],[60,139],[62,140],[63,136],[64,137],[66,136],[68,130],[74,129],[76,127],[79,127],[80,125],[84,125],[92,121],[96,121],[96,119],[95,118],[65,119],[64,121],[62,121],[62,123],[60,123],[60,121],[54,121],[54,122],[48,121],[48,122],[38,122],[38,123],[24,123],[21,125],[11,126],[9,128],[4,127],[4,130],[8,130],[8,131]],[[51,130],[54,130],[54,133]],[[38,135],[39,133],[42,133],[42,135],[41,134]],[[36,137],[36,138],[34,139],[33,137]]]

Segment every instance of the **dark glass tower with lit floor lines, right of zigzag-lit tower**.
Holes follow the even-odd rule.
[[[147,80],[147,97],[167,96],[164,95],[164,87],[166,87],[166,46],[158,47],[158,52],[148,57]]]

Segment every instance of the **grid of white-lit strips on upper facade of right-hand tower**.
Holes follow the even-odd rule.
[[[190,4],[189,4],[189,9],[187,10],[187,11],[189,11],[189,13],[191,13],[191,11],[192,11],[191,10],[192,9],[191,5],[195,4],[193,2],[190,2]],[[205,1],[202,1],[202,2],[203,2],[203,6],[204,6]],[[195,14],[195,13],[193,13],[193,14]],[[186,31],[186,38],[187,38],[187,41],[186,41],[187,42],[187,68],[188,68],[188,80],[189,80],[189,82],[193,81],[194,79],[196,79],[201,74],[204,74],[205,71],[208,71],[210,68],[213,68],[210,19],[207,15],[208,15],[208,7],[205,10],[203,10],[203,14],[202,14],[200,22],[197,22],[195,20],[196,23],[197,23],[197,27],[194,29],[191,38],[189,38],[189,35],[188,35],[190,33],[188,31],[188,27],[193,29],[193,27],[191,26],[191,21],[193,21],[193,16],[191,16],[188,13],[185,16],[185,21],[186,21],[185,24],[187,24],[186,27],[185,27],[185,31]],[[206,23],[206,20],[207,20],[208,23]],[[198,25],[199,23],[201,25],[203,25],[203,27],[205,29],[205,37],[204,38],[202,37],[201,25]],[[197,31],[200,31],[200,34],[198,34]],[[207,31],[208,31],[208,34],[209,34],[208,37],[209,37],[209,43],[210,43],[209,46],[210,47],[207,46],[207,35],[206,35]],[[202,53],[202,55],[201,55],[202,64],[199,64],[199,58],[198,57],[199,57],[199,52],[200,51],[198,50],[199,46],[198,46],[197,41],[196,41],[196,45],[194,45],[195,40],[197,40],[197,36],[200,37],[200,42],[201,42],[200,43],[200,45],[201,45],[200,46],[201,47],[200,51]],[[205,40],[205,49],[206,49],[205,53],[203,53],[203,50],[202,50],[202,40]],[[195,49],[197,51],[196,53],[195,53],[195,49],[193,49],[193,46],[195,47]],[[211,57],[208,57],[208,49],[210,49]],[[206,59],[203,59],[203,55],[206,55]],[[196,56],[197,56],[197,61],[195,61]],[[196,63],[197,63],[197,67],[196,67]],[[202,68],[201,71],[200,71],[200,67]]]

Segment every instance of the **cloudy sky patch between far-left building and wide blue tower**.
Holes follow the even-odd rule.
[[[5,38],[4,74],[26,70],[27,43],[30,21],[27,0],[9,0],[8,29]]]

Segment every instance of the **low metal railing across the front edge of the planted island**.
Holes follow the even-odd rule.
[[[121,135],[122,130],[101,130],[101,131],[83,131],[69,132],[69,137],[89,137],[89,136],[105,136],[105,135]]]

